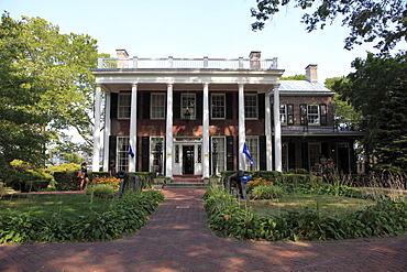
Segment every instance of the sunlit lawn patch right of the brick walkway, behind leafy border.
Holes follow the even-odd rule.
[[[359,199],[342,196],[293,194],[270,200],[250,200],[250,211],[258,216],[280,216],[289,211],[316,210],[323,215],[346,215],[365,206],[374,205],[371,199]]]

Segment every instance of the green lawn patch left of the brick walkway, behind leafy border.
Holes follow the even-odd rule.
[[[45,218],[54,215],[75,218],[92,214],[94,211],[102,213],[109,210],[113,200],[82,194],[15,196],[0,200],[0,215],[33,213]]]

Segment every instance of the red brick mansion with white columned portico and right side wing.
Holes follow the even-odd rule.
[[[332,157],[355,171],[360,131],[334,123],[333,91],[318,83],[280,80],[277,58],[139,58],[118,50],[99,58],[92,168],[209,177],[221,171],[318,171]],[[246,144],[253,163],[243,153]],[[102,152],[102,161],[99,154]]]

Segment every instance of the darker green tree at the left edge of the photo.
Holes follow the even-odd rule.
[[[33,165],[44,162],[48,139],[43,128],[50,117],[35,105],[45,90],[37,75],[25,73],[28,44],[20,40],[23,25],[2,14],[0,24],[0,165],[7,173],[10,162],[22,160]]]

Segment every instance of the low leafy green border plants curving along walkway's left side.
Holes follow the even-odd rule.
[[[77,218],[55,216],[45,220],[40,215],[24,213],[0,216],[0,243],[108,241],[140,229],[164,200],[163,193],[131,193],[113,200],[111,210]]]

